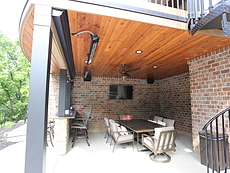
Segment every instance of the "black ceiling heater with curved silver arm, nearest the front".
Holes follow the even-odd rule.
[[[94,35],[91,31],[81,31],[81,32],[78,32],[78,33],[72,33],[72,35],[78,36],[79,34],[82,34],[82,33],[85,33],[85,32],[90,33],[91,38],[92,38],[90,50],[89,50],[89,53],[88,53],[88,61],[87,61],[87,64],[91,64],[92,61],[93,61],[94,54],[96,52],[97,44],[98,44],[98,41],[99,41],[100,37],[98,37],[97,35]]]

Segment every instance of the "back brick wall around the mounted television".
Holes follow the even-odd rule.
[[[109,85],[133,85],[132,100],[110,100]],[[82,77],[75,77],[71,102],[75,110],[83,115],[88,106],[92,109],[89,121],[90,130],[104,130],[104,117],[119,119],[121,114],[130,114],[135,118],[149,119],[159,113],[158,82],[147,84],[142,79],[118,80],[118,78],[92,77],[85,82]]]

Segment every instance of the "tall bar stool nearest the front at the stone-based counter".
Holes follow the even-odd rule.
[[[90,119],[92,112],[92,108],[88,107],[87,113],[85,117],[76,117],[73,122],[71,123],[71,129],[74,129],[74,137],[72,140],[72,147],[74,146],[74,143],[77,138],[85,138],[88,146],[89,144],[89,136],[88,136],[88,120]]]

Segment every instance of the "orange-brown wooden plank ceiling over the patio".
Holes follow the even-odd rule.
[[[228,38],[107,16],[68,11],[70,32],[91,31],[100,37],[93,63],[87,65],[91,35],[71,36],[75,70],[91,76],[121,76],[122,64],[131,78],[160,79],[188,71],[187,61],[230,45]],[[141,50],[141,54],[135,53]],[[157,68],[153,68],[157,66]]]

